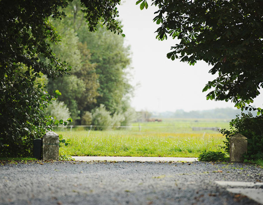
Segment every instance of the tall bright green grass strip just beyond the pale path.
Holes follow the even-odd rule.
[[[225,139],[218,132],[173,133],[152,130],[60,131],[71,139],[60,148],[72,156],[198,157],[204,151],[223,151]]]

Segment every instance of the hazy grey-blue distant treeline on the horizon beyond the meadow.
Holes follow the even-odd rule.
[[[247,111],[244,110],[245,113]],[[160,112],[152,113],[152,117],[159,118],[216,118],[216,119],[234,119],[236,115],[240,115],[240,109],[233,108],[215,108],[212,110],[201,110],[201,111],[189,111],[185,112],[184,110],[176,110],[175,112]],[[257,115],[257,112],[253,112],[253,115]]]

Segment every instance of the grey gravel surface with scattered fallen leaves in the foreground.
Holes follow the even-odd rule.
[[[257,204],[214,181],[263,181],[244,163],[54,162],[0,165],[0,204]]]

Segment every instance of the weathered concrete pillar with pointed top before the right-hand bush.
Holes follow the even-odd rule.
[[[230,138],[230,161],[242,162],[242,155],[247,152],[247,138],[242,134],[235,134]]]

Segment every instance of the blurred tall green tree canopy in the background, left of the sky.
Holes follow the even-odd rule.
[[[126,112],[124,101],[132,90],[127,79],[129,46],[124,45],[121,35],[105,27],[88,32],[79,0],[72,1],[63,11],[67,16],[62,21],[50,20],[62,38],[61,45],[53,44],[52,49],[57,57],[67,59],[71,75],[49,79],[47,90],[51,93],[58,89],[62,93],[58,100],[69,108],[74,124],[87,122],[81,118],[101,104],[112,116]]]

